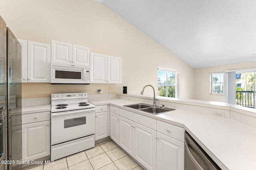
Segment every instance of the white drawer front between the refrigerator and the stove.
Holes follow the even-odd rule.
[[[22,115],[22,124],[50,120],[50,111]]]

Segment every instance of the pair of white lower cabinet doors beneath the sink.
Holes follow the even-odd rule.
[[[148,170],[156,169],[156,131],[120,116],[120,147]]]

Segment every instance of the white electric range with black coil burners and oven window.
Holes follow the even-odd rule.
[[[95,146],[95,106],[88,93],[51,95],[51,160]]]

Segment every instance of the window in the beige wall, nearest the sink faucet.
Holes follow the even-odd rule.
[[[179,73],[158,68],[158,96],[178,98]]]

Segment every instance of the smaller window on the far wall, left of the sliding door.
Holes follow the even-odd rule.
[[[210,94],[224,95],[224,73],[210,73]]]

